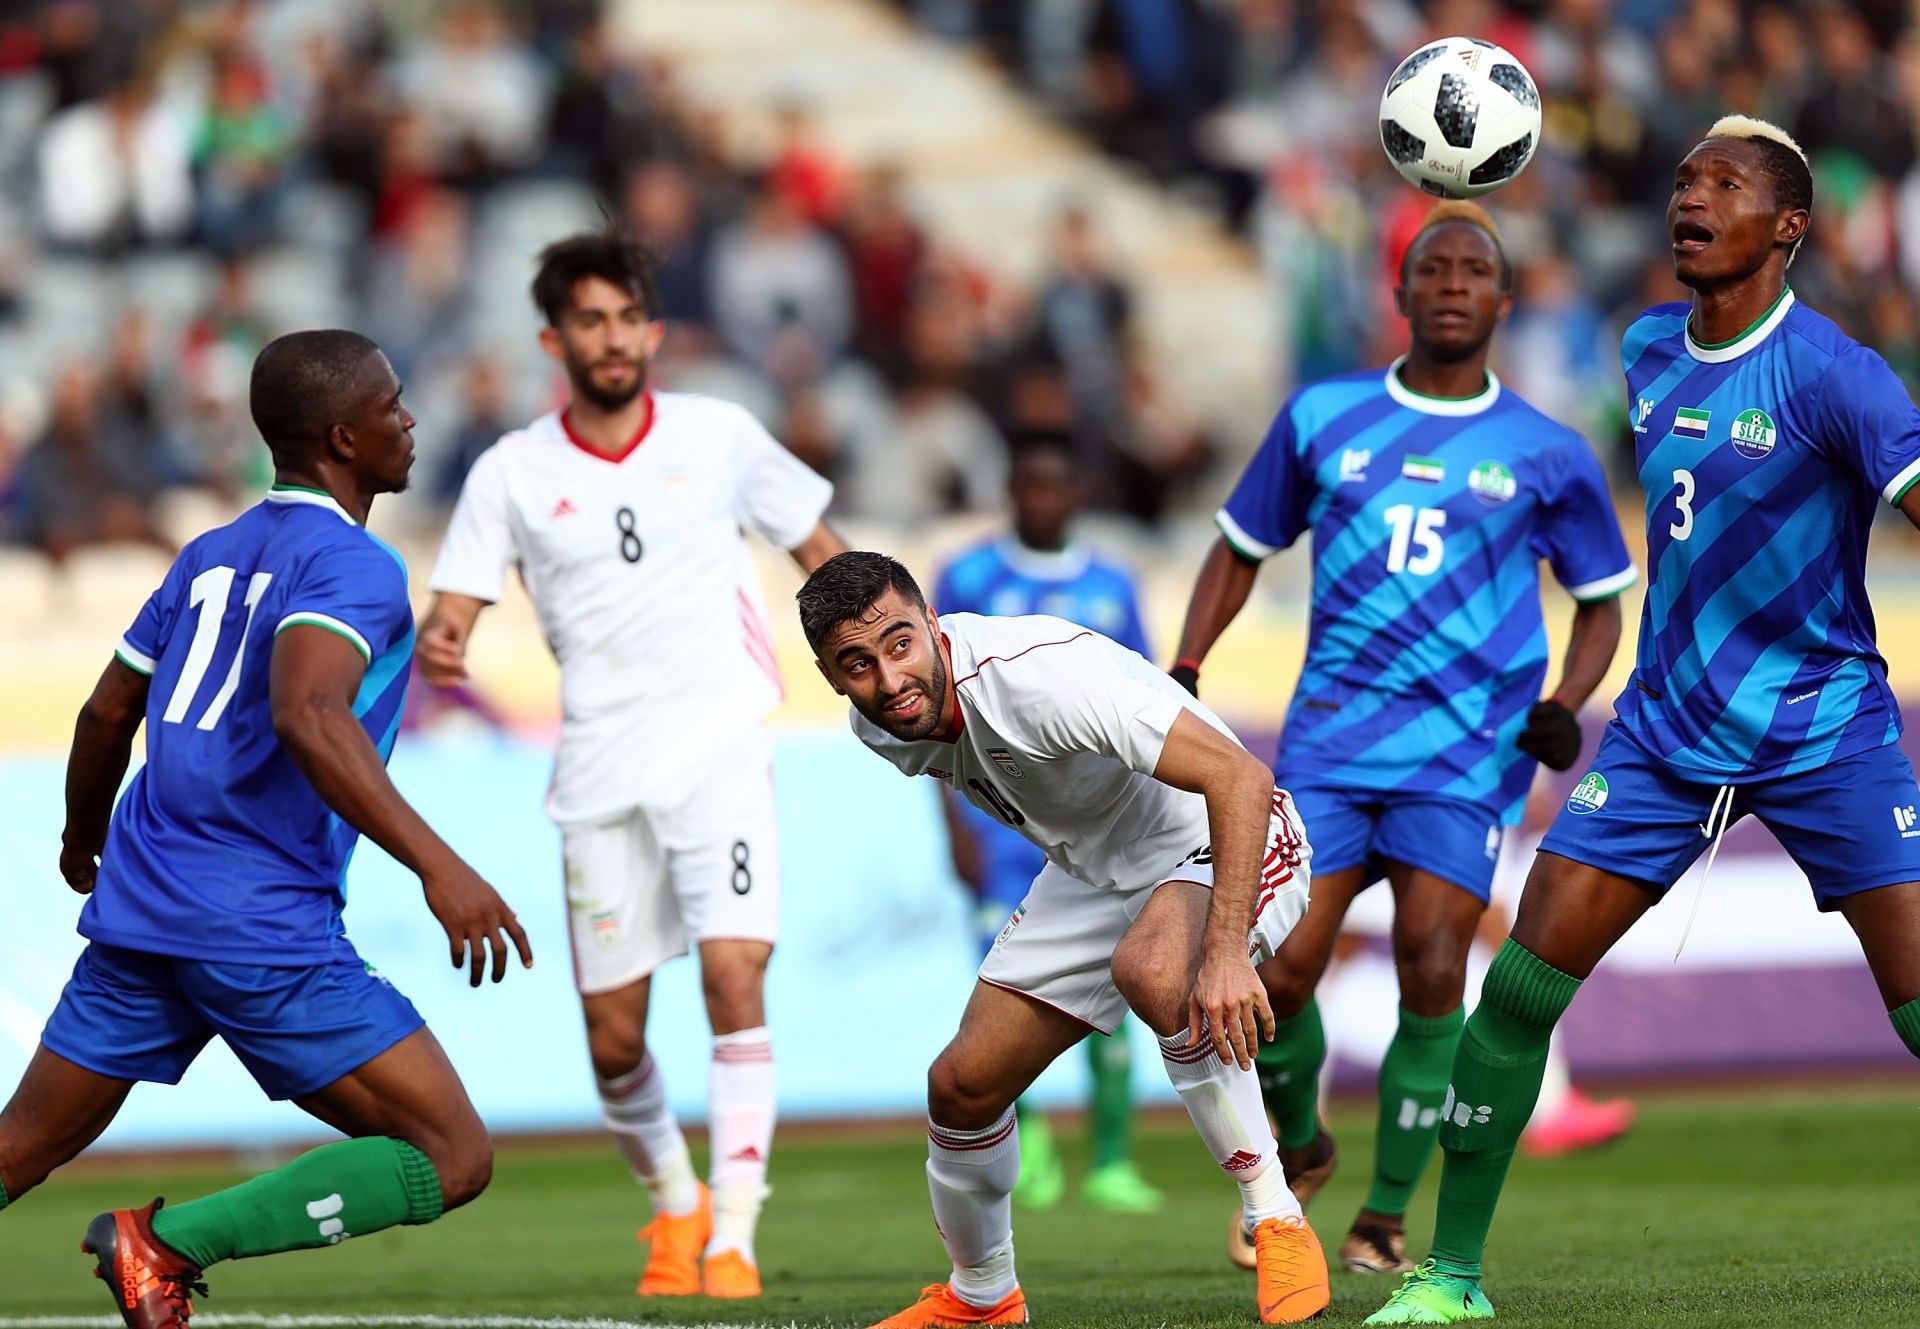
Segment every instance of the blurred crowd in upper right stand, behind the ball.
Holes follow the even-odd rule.
[[[1795,290],[1920,388],[1920,38],[1905,0],[895,0],[979,42],[1056,115],[1254,238],[1286,292],[1294,376],[1400,350],[1390,261],[1427,200],[1379,148],[1398,60],[1500,42],[1544,133],[1488,204],[1517,261],[1498,361],[1619,465],[1619,332],[1678,298],[1672,167],[1726,111],[1791,131],[1814,165]],[[1630,455],[1630,453],[1628,453]]]

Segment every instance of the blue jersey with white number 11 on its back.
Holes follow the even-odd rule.
[[[392,751],[413,655],[407,568],[332,497],[275,488],[186,545],[119,643],[152,676],[146,766],[113,809],[83,935],[244,964],[313,964],[342,935],[359,834],[273,732],[273,641],[298,624],[367,659],[353,714]]]

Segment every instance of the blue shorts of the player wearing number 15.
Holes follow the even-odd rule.
[[[1386,862],[1432,872],[1480,903],[1492,895],[1500,862],[1500,816],[1480,803],[1432,793],[1350,789],[1311,778],[1275,784],[1294,795],[1313,845],[1313,876],[1365,866],[1367,882]]]

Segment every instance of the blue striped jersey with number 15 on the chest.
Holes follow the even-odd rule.
[[[1398,365],[1308,384],[1221,507],[1240,555],[1313,530],[1313,624],[1275,774],[1432,793],[1517,822],[1540,699],[1538,561],[1574,599],[1634,580],[1586,442],[1488,375],[1473,398]]]

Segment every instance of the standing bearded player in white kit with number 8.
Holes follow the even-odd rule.
[[[831,486],[741,407],[645,390],[662,326],[632,240],[549,246],[534,302],[572,399],[467,476],[420,672],[440,686],[467,676],[474,618],[518,565],[561,663],[547,812],[563,832],[588,1049],[607,1129],[653,1196],[639,1294],[756,1296],[774,1139],[762,993],[780,918],[762,718],[781,686],[741,530],[812,570],[843,547],[820,520]],[[651,974],[689,939],[714,1033],[710,1193],[645,1043]]]

